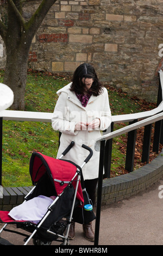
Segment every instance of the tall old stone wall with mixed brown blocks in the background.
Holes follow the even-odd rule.
[[[40,2],[26,3],[25,19]],[[34,36],[29,68],[72,73],[89,62],[104,84],[155,101],[162,14],[161,0],[58,0]]]

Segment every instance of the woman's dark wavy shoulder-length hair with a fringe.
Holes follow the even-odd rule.
[[[101,82],[99,82],[98,77],[96,75],[96,71],[92,65],[88,63],[83,63],[74,71],[72,77],[72,84],[71,84],[71,92],[75,92],[77,94],[84,94],[85,92],[85,85],[82,82],[82,78],[92,78],[93,83],[89,90],[94,96],[97,96],[103,92],[103,86]]]

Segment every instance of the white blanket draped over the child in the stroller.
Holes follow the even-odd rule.
[[[14,207],[9,216],[16,221],[31,221],[37,224],[43,216],[45,216],[48,206],[51,205],[53,199],[45,196],[34,197],[22,204]]]

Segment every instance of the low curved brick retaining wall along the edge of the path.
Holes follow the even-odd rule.
[[[163,176],[163,149],[161,153],[145,166],[134,172],[103,180],[102,205],[110,205],[127,199],[146,190]],[[3,198],[0,198],[0,210],[10,211],[23,202],[32,187],[3,188]]]

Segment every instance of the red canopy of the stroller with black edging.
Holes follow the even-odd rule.
[[[59,196],[68,183],[73,179],[77,172],[77,167],[71,162],[54,159],[53,157],[43,155],[39,152],[34,152],[30,157],[29,172],[33,184],[36,184],[43,174],[47,173]],[[74,188],[76,188],[77,178],[78,175],[72,181]],[[84,202],[80,182],[78,185],[77,198],[82,203]]]

